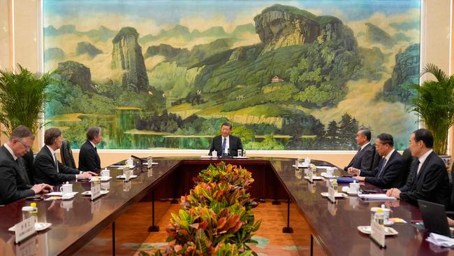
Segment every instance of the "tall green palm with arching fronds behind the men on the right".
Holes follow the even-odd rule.
[[[448,129],[454,123],[454,75],[446,75],[434,64],[427,64],[421,76],[426,73],[431,73],[437,80],[413,85],[417,94],[412,100],[411,111],[418,113],[425,127],[432,132],[434,151],[446,155]]]

